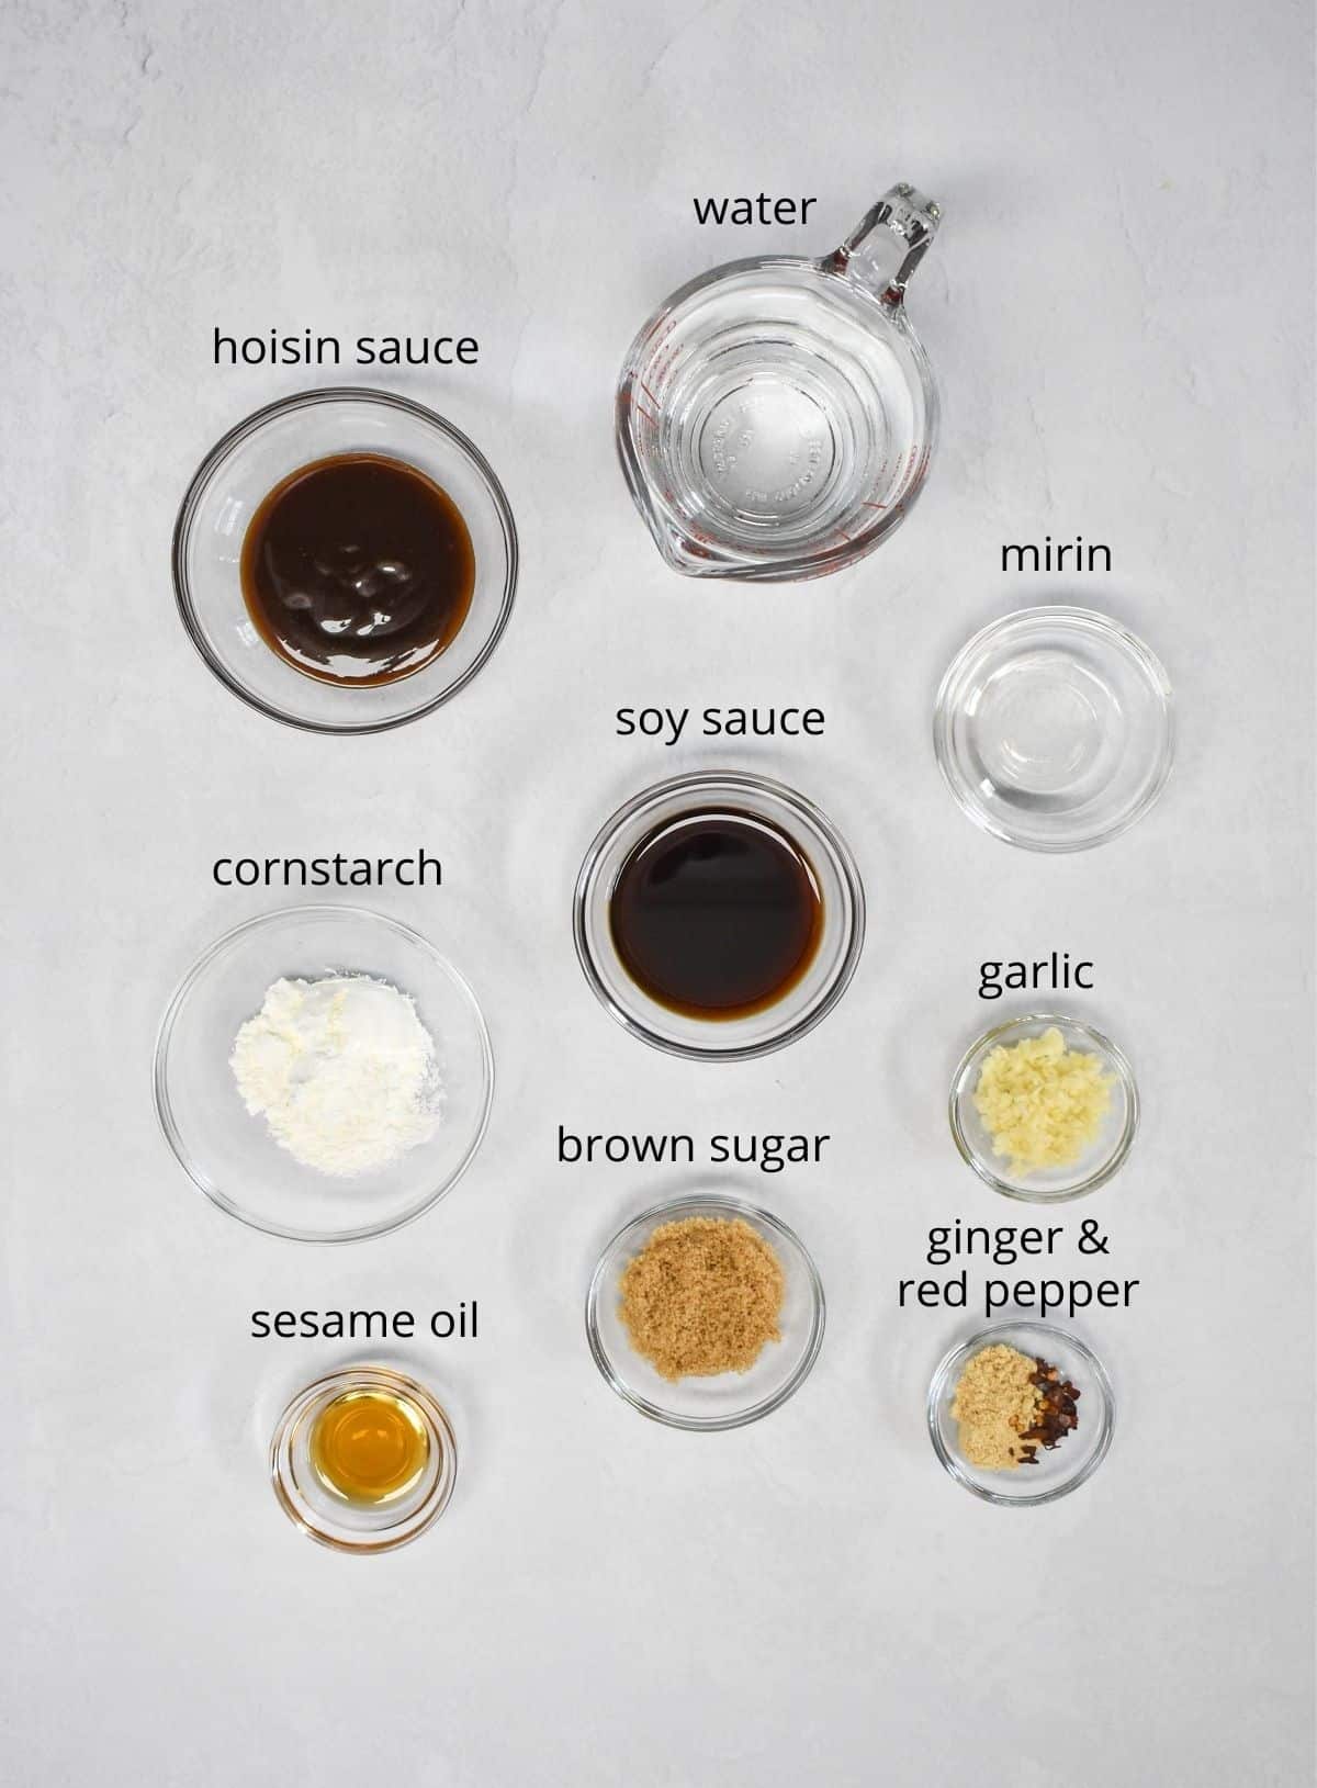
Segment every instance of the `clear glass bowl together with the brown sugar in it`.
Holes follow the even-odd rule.
[[[740,1429],[801,1387],[824,1287],[779,1218],[718,1193],[643,1210],[604,1248],[586,1336],[606,1384],[672,1429]]]

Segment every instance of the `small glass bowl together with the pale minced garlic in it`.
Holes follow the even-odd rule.
[[[1092,1025],[1031,1012],[977,1037],[951,1082],[951,1134],[1006,1198],[1060,1203],[1103,1185],[1138,1128],[1138,1087]]]

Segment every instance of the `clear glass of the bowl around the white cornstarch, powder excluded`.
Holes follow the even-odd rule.
[[[411,994],[443,1087],[434,1135],[352,1178],[304,1168],[281,1148],[243,1105],[229,1067],[238,1028],[272,982],[323,974],[370,974]],[[155,1112],[193,1184],[239,1223],[293,1241],[361,1241],[429,1210],[475,1155],[491,1096],[493,1053],[475,994],[424,937],[357,907],[293,907],[225,933],[180,982],[155,1042]]]

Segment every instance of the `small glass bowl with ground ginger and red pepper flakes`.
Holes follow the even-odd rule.
[[[954,1346],[927,1393],[933,1450],[985,1502],[1029,1507],[1078,1489],[1115,1423],[1101,1361],[1054,1323],[999,1321]]]

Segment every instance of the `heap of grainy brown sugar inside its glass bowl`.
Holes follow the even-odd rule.
[[[665,1379],[749,1371],[781,1341],[781,1261],[743,1218],[659,1223],[622,1273],[618,1314]]]

